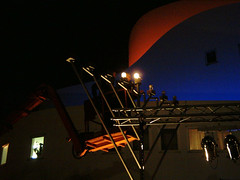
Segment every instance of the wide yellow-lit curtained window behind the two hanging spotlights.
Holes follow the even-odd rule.
[[[202,139],[204,138],[205,135],[210,135],[212,136],[217,145],[219,150],[224,150],[225,149],[225,144],[224,144],[224,138],[226,135],[232,133],[235,135],[237,138],[240,137],[240,131],[237,130],[211,130],[211,131],[204,131],[204,130],[198,130],[198,129],[189,129],[188,134],[189,134],[189,149],[190,150],[202,150],[201,147],[201,142]]]

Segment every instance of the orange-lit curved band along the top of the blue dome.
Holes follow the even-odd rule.
[[[129,40],[129,66],[137,62],[159,38],[186,19],[201,12],[237,1],[177,1],[142,16],[133,27]]]

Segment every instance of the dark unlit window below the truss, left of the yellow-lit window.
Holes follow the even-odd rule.
[[[176,129],[163,129],[161,136],[162,150],[177,150],[177,130]]]

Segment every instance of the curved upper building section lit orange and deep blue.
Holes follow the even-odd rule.
[[[129,69],[169,99],[240,99],[240,1],[178,1],[142,16]]]

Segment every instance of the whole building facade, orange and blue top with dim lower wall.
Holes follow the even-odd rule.
[[[197,12],[196,7],[200,8]],[[239,11],[238,1],[178,1],[147,13],[133,28],[131,66],[127,72],[140,72],[143,90],[153,84],[158,97],[165,90],[170,101],[177,96],[179,105],[239,103]],[[182,19],[171,24],[169,18],[178,19],[181,12]],[[156,16],[162,21],[156,21]],[[144,38],[151,39],[144,32],[154,34],[155,29],[167,27],[162,22],[168,21],[162,35],[143,47]],[[150,26],[151,22],[154,23]],[[81,103],[77,100],[82,96],[79,91],[82,90],[76,86],[60,90],[59,94],[76,129],[84,132],[84,106],[83,99]],[[150,102],[149,106],[153,104]],[[167,125],[157,143],[154,141],[163,124],[149,126],[144,134],[145,157],[152,145],[156,146],[145,164],[144,178],[152,179],[154,175],[154,179],[164,180],[239,180],[239,160],[230,160],[224,143],[228,134],[240,138],[237,120],[180,123],[178,129],[177,124]],[[90,122],[89,126],[90,131],[101,130],[95,123]],[[207,135],[218,144],[217,156],[211,162],[206,161],[201,146]],[[68,141],[69,135],[54,106],[40,107],[0,137],[0,179],[129,179],[115,151],[97,151],[75,159]],[[137,143],[131,145],[138,157]],[[133,179],[140,179],[140,170],[128,148],[121,148],[120,152]]]

